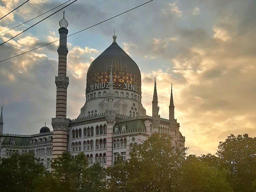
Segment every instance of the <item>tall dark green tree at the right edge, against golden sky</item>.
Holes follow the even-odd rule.
[[[228,181],[235,192],[251,192],[256,180],[256,138],[231,134],[220,142],[216,153],[229,172]]]

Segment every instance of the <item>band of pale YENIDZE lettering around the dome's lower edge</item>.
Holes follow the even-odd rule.
[[[121,90],[129,90],[133,92],[137,92],[141,94],[140,87],[137,85],[129,84],[129,83],[118,83],[118,86],[115,86],[117,82],[114,83],[114,89],[121,89]],[[100,89],[108,89],[109,88],[109,82],[101,82],[101,83],[94,83],[90,85],[90,88],[86,90],[88,92],[96,91]]]

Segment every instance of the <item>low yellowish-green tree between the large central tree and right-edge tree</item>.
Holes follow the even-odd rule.
[[[196,156],[188,156],[180,169],[180,186],[177,192],[232,192],[227,182],[227,172],[200,161]]]

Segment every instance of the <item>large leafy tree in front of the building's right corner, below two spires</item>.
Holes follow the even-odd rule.
[[[153,133],[133,147],[127,162],[118,159],[107,168],[109,191],[174,191],[184,155],[185,149],[175,149],[170,135]]]

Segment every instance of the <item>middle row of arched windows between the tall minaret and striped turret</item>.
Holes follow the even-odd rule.
[[[106,149],[107,148],[107,139],[96,139],[95,140],[95,149]],[[94,149],[94,142],[93,140],[87,140],[83,142],[83,149],[82,149],[82,143],[79,142],[73,142],[72,143],[72,152],[78,152],[78,151],[91,151]]]

